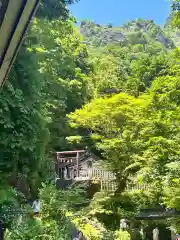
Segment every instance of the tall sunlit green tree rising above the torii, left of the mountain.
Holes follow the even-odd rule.
[[[64,150],[69,148],[66,136],[71,132],[66,114],[81,107],[91,95],[87,85],[88,55],[71,20],[36,20],[32,33],[37,36],[39,32],[40,47],[34,51],[41,54],[40,71],[46,82],[43,92],[51,118],[49,147]]]

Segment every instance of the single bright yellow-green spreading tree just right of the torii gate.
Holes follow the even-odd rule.
[[[69,117],[73,127],[92,132],[95,146],[105,157],[108,168],[116,174],[118,190],[124,191],[132,169],[138,167],[136,154],[141,151],[138,139],[143,109],[148,99],[136,99],[121,93],[111,98],[95,99]],[[111,160],[110,160],[111,159]]]

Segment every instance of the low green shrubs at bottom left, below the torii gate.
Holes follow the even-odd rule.
[[[32,217],[30,211],[19,214],[12,223],[7,240],[65,240],[70,239],[73,225],[66,212],[84,202],[80,189],[56,190],[54,186],[43,186],[40,190],[41,215]]]

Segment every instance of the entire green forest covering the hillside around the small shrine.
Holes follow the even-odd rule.
[[[67,8],[76,2],[41,1],[0,94],[5,240],[70,240],[74,227],[87,240],[146,239],[140,228],[159,223],[137,221],[140,209],[180,210],[180,1],[164,27],[77,25]],[[54,153],[74,149],[98,156],[117,189],[56,189]],[[130,181],[148,191],[126,191]],[[159,222],[180,234],[180,218]]]

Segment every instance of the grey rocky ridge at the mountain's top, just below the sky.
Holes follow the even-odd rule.
[[[86,43],[93,46],[105,46],[107,44],[149,44],[157,43],[167,49],[172,49],[179,42],[179,32],[174,32],[168,27],[161,28],[154,21],[137,19],[130,21],[121,27],[112,27],[111,24],[101,26],[92,21],[82,21],[80,33]]]

